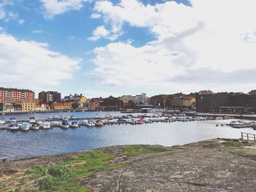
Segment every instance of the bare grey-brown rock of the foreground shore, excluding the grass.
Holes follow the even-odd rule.
[[[122,146],[106,150],[118,153]],[[70,154],[0,163],[0,187],[7,182],[10,172],[55,164],[68,156]],[[110,164],[118,161],[130,164],[78,182],[92,191],[256,191],[256,142],[211,139],[171,147],[167,152],[117,158]]]

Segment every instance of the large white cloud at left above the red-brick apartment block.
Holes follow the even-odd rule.
[[[50,50],[48,44],[20,41],[10,34],[0,34],[0,47],[1,83],[14,87],[59,85],[72,79],[81,61]]]

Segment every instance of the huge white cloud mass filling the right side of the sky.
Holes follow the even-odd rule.
[[[234,81],[231,76],[239,70],[245,70],[245,74],[256,69],[256,1],[191,0],[191,4],[187,7],[166,1],[149,5],[122,0],[114,5],[97,1],[94,12],[101,14],[105,24],[117,32],[128,23],[131,27],[148,28],[156,37],[141,47],[124,42],[97,47],[94,74],[100,77],[99,82],[181,89],[186,83],[187,89],[200,89],[206,86],[203,79],[200,83],[198,78],[190,78],[189,82],[177,82],[175,78],[186,78],[187,72],[200,75],[219,71],[216,78]],[[209,70],[203,70],[206,68]],[[230,78],[222,78],[227,74]],[[218,88],[225,83],[230,85],[218,81],[212,86]],[[250,86],[256,86],[256,82]]]

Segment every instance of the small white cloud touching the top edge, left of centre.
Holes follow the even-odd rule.
[[[88,0],[41,0],[45,9],[45,18],[53,18],[55,15],[61,15],[64,12],[80,10],[83,3]]]

